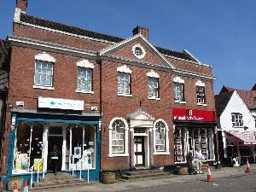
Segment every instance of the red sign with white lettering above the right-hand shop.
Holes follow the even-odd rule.
[[[210,121],[216,122],[215,111],[172,108],[173,120],[181,121]]]

